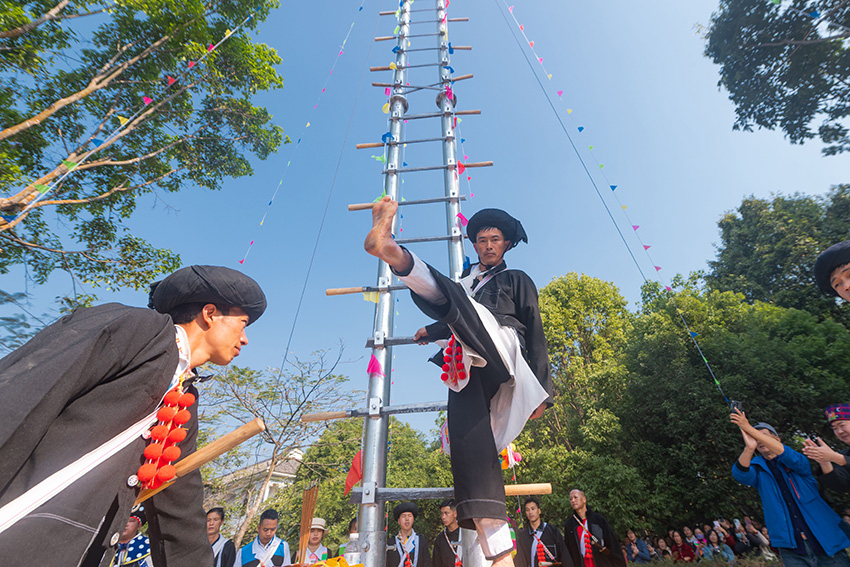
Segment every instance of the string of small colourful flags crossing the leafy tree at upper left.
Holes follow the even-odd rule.
[[[245,17],[244,20],[242,20],[232,30],[228,29],[227,31],[225,31],[224,36],[221,39],[219,39],[217,43],[214,43],[214,44],[210,43],[207,46],[206,52],[204,52],[204,54],[201,55],[201,57],[199,57],[197,60],[189,61],[188,65],[186,66],[186,69],[183,70],[182,72],[180,72],[180,74],[174,73],[174,74],[178,75],[178,77],[176,79],[174,77],[172,77],[171,75],[166,74],[166,76],[164,78],[165,88],[168,89],[168,88],[171,88],[176,83],[183,82],[184,77],[189,72],[191,72],[191,70],[198,63],[200,63],[204,59],[206,59],[210,55],[210,53],[212,53],[222,43],[227,41],[234,33],[239,31],[245,24],[250,22],[253,18],[254,18],[254,14],[249,14],[247,17]],[[96,152],[98,152],[106,144],[108,144],[109,142],[114,140],[118,134],[120,134],[123,130],[126,129],[128,124],[132,123],[136,118],[138,118],[153,103],[154,103],[154,99],[151,96],[143,95],[141,105],[135,107],[134,109],[131,108],[131,109],[124,111],[124,114],[130,114],[129,117],[124,116],[123,114],[116,113],[115,118],[118,120],[118,126],[116,128],[113,128],[112,131],[110,131],[109,134],[103,139],[96,138],[96,137],[94,137],[94,134],[92,134],[89,137],[89,139],[91,140],[91,142],[93,144],[93,147],[90,150],[87,150],[86,152],[84,152],[80,157],[78,157],[76,159],[76,161],[72,161],[72,160],[69,160],[69,159],[61,160],[61,165],[65,166],[65,171],[58,178],[54,179],[53,181],[51,181],[50,183],[47,183],[47,184],[41,184],[41,183],[34,184],[33,188],[38,193],[36,195],[36,197],[32,201],[27,203],[27,205],[23,209],[21,209],[16,215],[14,215],[14,216],[3,215],[2,218],[9,223],[14,223],[18,219],[20,219],[29,210],[31,210],[33,207],[35,207],[35,205],[38,202],[40,202],[42,199],[44,199],[45,196],[50,192],[51,189],[57,187],[62,181],[64,181],[71,174],[71,172],[76,171],[83,163],[88,161],[88,159],[92,155],[94,155]]]

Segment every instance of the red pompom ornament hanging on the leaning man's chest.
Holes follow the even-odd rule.
[[[194,403],[195,396],[184,394],[179,384],[163,396],[162,407],[156,412],[158,423],[151,428],[150,444],[145,447],[145,464],[136,473],[142,488],[159,488],[177,474],[171,463],[180,458],[177,444],[186,438],[181,426],[191,418],[186,408]]]

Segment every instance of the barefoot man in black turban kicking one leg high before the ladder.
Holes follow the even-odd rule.
[[[444,357],[450,388],[449,442],[458,524],[475,529],[495,567],[513,565],[498,453],[552,405],[552,382],[537,288],[508,270],[505,252],[528,241],[522,224],[499,209],[476,213],[467,233],[479,263],[460,283],[443,276],[392,237],[398,203],[384,197],[372,208],[369,254],[386,262],[410,288],[416,305],[436,319],[429,340],[453,335]],[[417,333],[422,338],[422,331]],[[458,350],[460,352],[458,352]]]

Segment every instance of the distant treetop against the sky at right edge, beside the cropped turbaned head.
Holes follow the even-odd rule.
[[[749,302],[795,307],[850,326],[846,305],[818,291],[813,271],[819,253],[850,238],[848,219],[850,185],[824,197],[748,197],[720,220],[720,246],[706,281]]]

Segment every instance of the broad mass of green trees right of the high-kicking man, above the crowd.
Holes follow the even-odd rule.
[[[563,525],[574,487],[620,535],[761,514],[757,493],[732,479],[741,436],[680,316],[726,395],[790,445],[822,432],[822,408],[845,399],[846,327],[698,281],[677,279],[675,294],[647,284],[635,313],[616,287],[588,276],[541,291],[558,395],[518,439],[517,476],[553,484],[541,498],[547,521]]]

